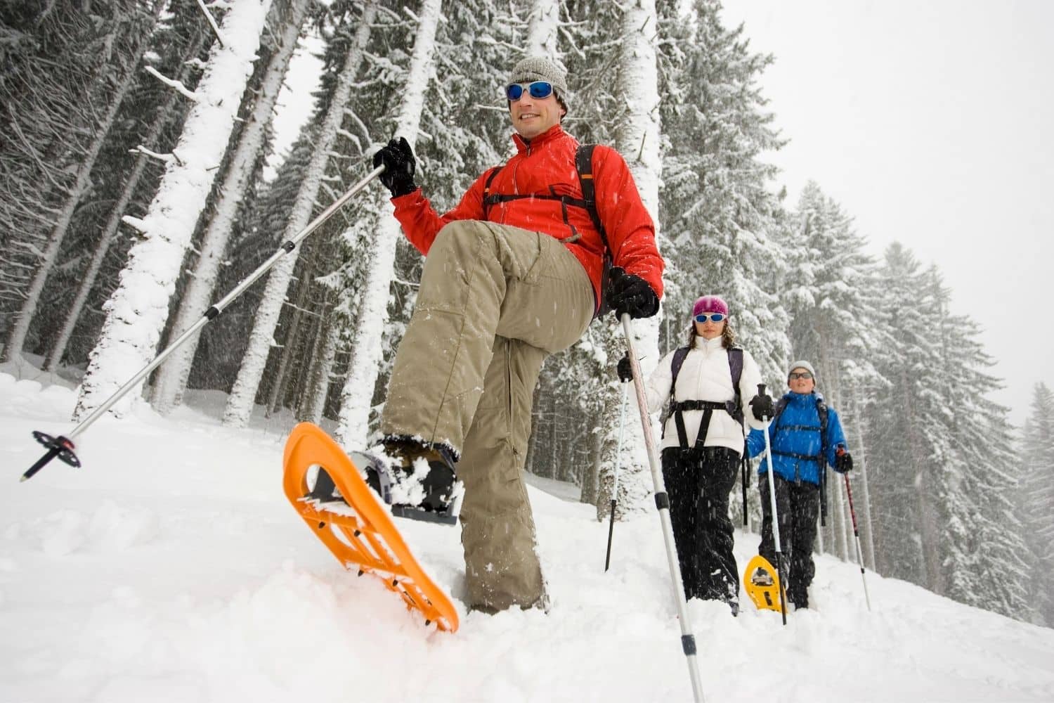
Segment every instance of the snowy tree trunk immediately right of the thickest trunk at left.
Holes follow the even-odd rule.
[[[197,324],[211,305],[212,292],[219,277],[219,268],[227,252],[238,206],[249,189],[253,167],[264,148],[267,129],[274,117],[275,102],[289,69],[290,59],[296,50],[296,39],[307,15],[307,7],[308,0],[293,0],[291,3],[278,46],[268,62],[267,72],[257,93],[256,105],[241,132],[231,165],[219,189],[215,214],[201,239],[200,255],[197,266],[194,267],[194,275],[187,285],[179,312],[176,313],[172,326],[173,338]],[[171,412],[182,402],[199,336],[195,335],[183,343],[157,370],[152,403],[154,409],[162,415]]]

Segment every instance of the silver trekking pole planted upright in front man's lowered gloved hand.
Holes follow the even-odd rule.
[[[629,325],[629,314],[623,313],[622,331],[626,335],[626,353],[629,354],[630,368],[633,371],[633,390],[637,392],[637,407],[641,411],[641,424],[644,426],[644,445],[648,450],[648,465],[651,467],[651,481],[655,484],[656,506],[659,508],[659,520],[662,522],[662,536],[666,543],[666,561],[669,564],[669,575],[674,581],[674,593],[677,597],[677,616],[681,623],[681,649],[688,664],[688,676],[691,677],[691,692],[696,703],[703,702],[703,684],[699,677],[699,665],[696,662],[696,636],[691,633],[691,623],[688,622],[688,604],[684,600],[684,583],[681,581],[681,568],[677,562],[677,546],[674,544],[674,526],[669,519],[669,495],[662,479],[659,464],[659,452],[656,451],[655,438],[651,434],[651,417],[648,415],[648,403],[644,395],[644,382],[641,379],[641,365],[633,350],[632,328]]]

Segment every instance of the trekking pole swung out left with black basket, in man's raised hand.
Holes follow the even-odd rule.
[[[273,267],[275,263],[278,262],[278,259],[280,259],[282,256],[296,249],[296,245],[300,243],[300,241],[302,241],[309,234],[317,230],[323,222],[332,217],[333,213],[335,213],[337,210],[344,207],[344,204],[348,202],[348,200],[350,200],[353,195],[355,195],[360,190],[366,188],[366,185],[371,180],[379,176],[384,170],[385,168],[383,165],[379,165],[373,171],[371,171],[369,174],[367,174],[366,178],[363,178],[363,180],[352,185],[347,193],[345,193],[339,198],[334,200],[326,210],[324,210],[318,215],[318,217],[315,217],[306,228],[300,230],[291,239],[282,243],[281,247],[278,248],[278,251],[276,251],[274,254],[271,255],[271,258],[264,261],[264,263],[261,263],[258,269],[256,269],[251,274],[249,274],[245,279],[242,279],[242,281],[238,284],[234,288],[234,290],[228,293],[222,299],[220,299],[218,302],[214,302],[212,307],[210,307],[204,312],[204,315],[200,319],[198,319],[198,321],[196,321],[194,325],[188,328],[188,330],[182,334],[180,334],[175,341],[169,345],[160,354],[155,356],[153,362],[151,362],[142,369],[140,369],[138,373],[136,373],[123,386],[117,389],[117,392],[111,395],[109,398],[106,398],[102,405],[93,410],[87,417],[82,419],[80,424],[77,425],[77,427],[73,428],[73,430],[70,432],[67,436],[62,436],[62,435],[52,436],[50,434],[45,434],[44,432],[34,431],[33,432],[34,438],[40,444],[42,444],[44,447],[46,447],[47,452],[44,453],[44,455],[41,456],[39,460],[37,460],[37,463],[31,466],[25,471],[25,473],[22,474],[20,481],[26,481],[28,479],[32,479],[37,471],[44,468],[44,466],[46,466],[47,463],[51,462],[56,456],[58,456],[62,462],[69,464],[74,468],[79,467],[80,460],[78,460],[77,454],[74,453],[74,444],[73,444],[74,437],[76,437],[78,434],[86,430],[92,425],[92,423],[101,417],[102,414],[106,412],[106,410],[109,410],[115,403],[117,403],[117,401],[119,401],[130,390],[135,388],[140,380],[145,378],[151,371],[160,366],[161,363],[164,362],[164,359],[167,359],[169,355],[172,354],[172,352],[174,352],[180,345],[182,345],[184,341],[194,336],[194,334],[196,334],[198,330],[200,330],[202,327],[211,323],[216,316],[219,315],[219,313],[223,312],[227,306],[233,302],[236,297],[241,295],[247,288],[256,282],[256,280],[260,276],[267,273],[271,269],[271,267]]]

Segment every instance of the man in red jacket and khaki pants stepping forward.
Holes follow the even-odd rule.
[[[469,605],[487,611],[545,605],[521,477],[532,394],[542,362],[582,337],[602,293],[604,239],[582,204],[579,143],[560,125],[567,97],[560,66],[520,61],[506,89],[516,155],[445,215],[414,184],[405,138],[374,156],[395,217],[426,256],[382,416],[385,451],[406,474],[427,473],[417,507],[437,514],[451,511],[456,466]],[[651,217],[618,152],[598,145],[592,173],[613,263],[606,302],[653,315],[664,263]]]

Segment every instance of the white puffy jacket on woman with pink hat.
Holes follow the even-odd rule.
[[[666,354],[658,368],[648,378],[644,388],[647,393],[648,410],[659,412],[669,403],[669,391],[674,380],[672,362],[675,352]],[[747,425],[761,429],[764,424],[759,422],[747,405],[758,393],[761,383],[761,371],[750,352],[743,350],[743,373],[739,378],[740,398],[743,403],[743,417]],[[722,338],[704,339],[696,337],[695,347],[684,357],[684,364],[677,375],[677,396],[681,401],[710,401],[724,403],[735,401],[736,393],[731,387],[731,371],[728,367],[728,351],[724,348]],[[684,429],[688,445],[695,446],[699,436],[699,423],[702,422],[702,410],[684,411]],[[728,447],[737,452],[743,452],[743,426],[733,419],[723,410],[715,410],[710,416],[710,426],[706,432],[707,447]],[[679,447],[677,424],[674,416],[666,419],[662,448]]]

